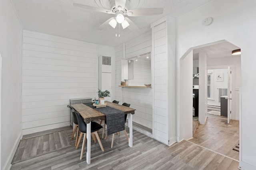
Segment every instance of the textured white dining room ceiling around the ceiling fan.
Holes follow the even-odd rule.
[[[158,16],[129,17],[139,31],[120,29],[120,37],[110,25],[97,28],[113,17],[73,6],[73,3],[98,7],[96,2],[107,0],[12,0],[23,29],[48,33],[60,37],[115,47],[150,30],[150,24],[163,16],[178,18],[213,0],[140,0],[139,8],[164,8]],[[134,1],[134,0],[130,0]],[[208,17],[208,16],[205,16]]]

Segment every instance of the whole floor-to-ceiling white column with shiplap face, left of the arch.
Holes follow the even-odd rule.
[[[176,142],[176,27],[175,19],[164,17],[152,27],[153,129],[155,139]]]

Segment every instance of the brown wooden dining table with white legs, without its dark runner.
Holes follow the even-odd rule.
[[[112,102],[105,101],[107,106],[123,111],[124,114],[128,114],[128,127],[129,127],[129,137],[128,137],[128,145],[132,147],[132,115],[135,113],[136,109],[131,107],[122,106],[120,104],[115,104]],[[87,164],[91,163],[91,121],[106,119],[106,115],[93,109],[85,104],[72,104],[72,108],[74,108],[83,118],[84,122],[87,124],[86,126],[86,139],[87,139],[87,152],[86,152],[86,162]],[[83,156],[83,152],[81,151],[81,158]]]

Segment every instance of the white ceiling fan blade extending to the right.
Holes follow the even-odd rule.
[[[138,16],[154,16],[163,14],[164,8],[140,8],[140,9],[133,9],[128,10],[126,14],[131,17],[138,17]]]

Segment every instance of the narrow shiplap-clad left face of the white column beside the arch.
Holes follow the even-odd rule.
[[[153,137],[168,144],[168,47],[166,22],[152,29],[154,40],[154,129]]]

